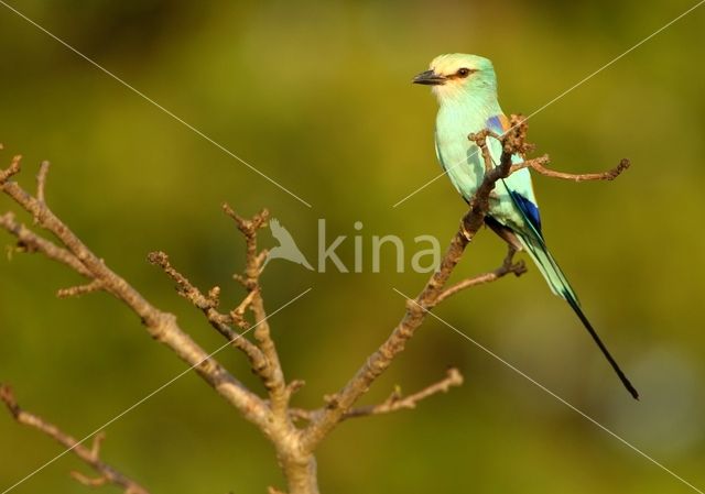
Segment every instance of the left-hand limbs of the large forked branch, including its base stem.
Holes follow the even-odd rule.
[[[278,459],[284,471],[291,494],[316,494],[316,463],[315,458],[310,452],[300,447],[299,432],[285,411],[290,392],[288,391],[279,358],[270,337],[269,323],[264,311],[263,301],[259,290],[258,277],[261,271],[261,263],[264,260],[262,253],[257,252],[256,232],[264,226],[268,213],[262,211],[252,220],[243,220],[234,215],[238,222],[238,228],[245,233],[248,250],[248,264],[243,279],[248,296],[245,306],[252,309],[257,323],[256,339],[261,345],[257,347],[242,344],[248,349],[253,361],[261,365],[254,365],[254,371],[260,373],[264,385],[269,391],[271,407],[262,398],[249,391],[242,383],[236,380],[223,365],[212,355],[206,353],[195,341],[191,339],[178,326],[176,318],[161,311],[152,306],[139,292],[137,292],[126,279],[112,272],[106,263],[96,256],[80,239],[58,218],[52,210],[40,201],[36,197],[26,193],[15,182],[9,180],[11,176],[19,172],[19,158],[15,158],[10,167],[0,171],[0,190],[12,198],[18,205],[25,209],[35,219],[36,224],[53,233],[62,246],[45,241],[17,224],[11,215],[2,217],[3,224],[10,233],[18,238],[26,238],[28,245],[37,252],[64,262],[75,271],[85,275],[91,282],[100,283],[101,289],[110,293],[122,300],[132,311],[134,311],[143,322],[148,332],[155,340],[173,350],[191,369],[204,378],[213,388],[228,403],[236,407],[246,419],[252,421],[263,432],[263,435],[274,444]],[[230,210],[231,211],[231,210]],[[226,210],[227,212],[227,210]],[[152,259],[163,267],[167,267],[166,257],[159,253]],[[214,309],[219,301],[219,289],[212,289],[208,296],[203,296],[193,287],[187,279],[175,271],[170,275],[177,282],[181,293],[185,294],[202,310]],[[91,289],[93,289],[91,285]],[[87,290],[88,288],[74,288],[66,294],[74,294]],[[241,314],[240,304],[235,312]],[[239,308],[239,310],[238,310]],[[229,320],[228,316],[210,312],[214,320],[219,321],[219,327],[225,331],[223,325]],[[232,332],[234,338],[242,340],[239,333]],[[252,350],[253,349],[253,350]],[[256,350],[256,351],[254,351]],[[261,356],[263,355],[263,356]],[[85,479],[84,479],[85,480]],[[91,482],[99,482],[95,479]]]

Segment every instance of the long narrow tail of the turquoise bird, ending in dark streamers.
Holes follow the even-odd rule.
[[[539,232],[531,231],[528,234],[519,233],[518,237],[521,240],[521,243],[527,249],[527,252],[529,252],[529,255],[531,255],[531,259],[536,264],[536,267],[539,267],[539,271],[549,283],[551,290],[568,303],[573,311],[581,319],[581,322],[583,322],[583,326],[585,326],[585,329],[587,329],[587,332],[589,332],[590,337],[593,337],[593,340],[595,340],[595,343],[597,343],[597,347],[599,347],[600,351],[619,376],[619,380],[621,381],[623,386],[631,394],[631,396],[633,396],[634,399],[639,399],[639,393],[631,385],[621,369],[619,369],[619,365],[609,353],[607,347],[605,347],[605,343],[603,343],[603,340],[600,340],[599,336],[593,328],[593,325],[590,325],[589,320],[583,312],[575,292],[563,274],[563,271],[561,271],[557,263],[549,252],[549,249],[546,248],[546,244],[543,241],[541,234]]]

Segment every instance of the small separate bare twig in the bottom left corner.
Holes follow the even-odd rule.
[[[86,448],[76,439],[63,432],[55,425],[45,421],[37,415],[23,410],[20,405],[18,405],[17,398],[14,397],[12,388],[9,385],[0,385],[0,400],[4,403],[12,417],[14,417],[14,419],[19,424],[37,429],[39,431],[51,437],[64,448],[70,450],[72,453],[78,457],[84,463],[86,463],[99,474],[99,476],[96,479],[89,479],[78,472],[72,472],[72,476],[78,482],[91,486],[99,486],[110,483],[124,488],[126,492],[129,493],[149,494],[149,491],[147,491],[135,481],[118,472],[116,469],[100,460],[100,443],[105,438],[105,435],[102,432],[98,433],[94,438],[91,448]]]

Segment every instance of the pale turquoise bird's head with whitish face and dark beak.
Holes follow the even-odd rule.
[[[492,63],[481,56],[465,53],[451,53],[435,57],[429,70],[419,74],[412,83],[431,86],[441,102],[476,92],[497,94]]]

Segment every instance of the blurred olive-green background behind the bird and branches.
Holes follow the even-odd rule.
[[[199,286],[241,296],[242,242],[220,212],[268,207],[315,261],[328,235],[449,239],[464,204],[440,172],[435,101],[410,84],[429,61],[469,52],[496,65],[507,112],[531,113],[693,2],[12,2],[160,105],[250,162],[307,208],[0,6],[2,161],[24,155],[28,187],[52,161],[48,200],[107,263],[204,347],[221,344],[145,262],[164,250]],[[632,168],[610,184],[539,177],[550,245],[642,394],[621,388],[536,270],[466,292],[438,316],[596,420],[705,486],[705,336],[699,259],[705,8],[536,114],[530,138],[564,171]],[[3,165],[4,166],[4,165]],[[0,211],[17,210],[6,197]],[[26,216],[21,217],[28,220]],[[31,220],[30,220],[31,221]],[[0,234],[3,245],[12,239]],[[263,237],[263,243],[273,245]],[[368,251],[369,252],[369,251]],[[352,241],[340,249],[352,263]],[[497,266],[482,232],[456,277]],[[367,254],[366,254],[367,255]],[[84,436],[184,370],[105,294],[58,300],[77,282],[33,255],[0,262],[0,381],[20,403]],[[296,396],[316,406],[389,333],[426,275],[394,261],[325,274],[273,262],[263,277]],[[258,387],[240,354],[219,359]],[[531,383],[429,320],[365,398],[414,391],[457,365],[466,384],[414,411],[346,422],[318,452],[328,493],[686,493],[670,476]],[[282,486],[272,448],[194,374],[108,430],[105,459],[154,493],[261,493]],[[59,452],[0,414],[0,488]],[[88,492],[66,455],[13,492]],[[511,472],[511,474],[509,474]],[[111,491],[112,490],[112,491]],[[106,487],[105,492],[118,492]]]

